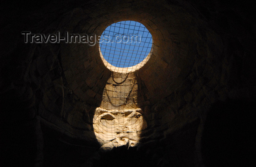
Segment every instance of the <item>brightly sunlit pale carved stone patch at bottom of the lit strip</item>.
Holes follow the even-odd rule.
[[[136,146],[141,130],[147,126],[139,111],[140,108],[123,111],[96,108],[93,128],[101,148],[108,150],[123,145]]]

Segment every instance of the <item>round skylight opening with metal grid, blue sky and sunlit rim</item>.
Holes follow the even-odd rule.
[[[142,67],[150,58],[153,39],[148,29],[137,21],[109,25],[99,40],[103,63],[112,71],[128,73]]]

